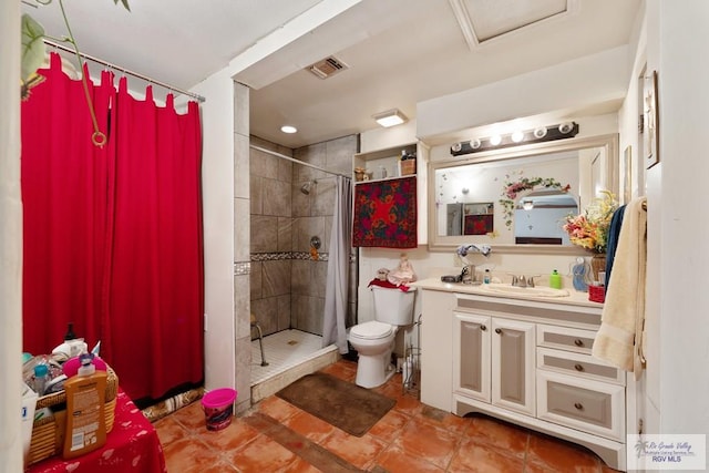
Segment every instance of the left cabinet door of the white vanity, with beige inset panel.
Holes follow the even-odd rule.
[[[490,402],[490,317],[453,312],[453,389]]]

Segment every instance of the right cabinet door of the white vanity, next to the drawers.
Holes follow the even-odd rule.
[[[492,320],[492,402],[534,415],[534,323]]]

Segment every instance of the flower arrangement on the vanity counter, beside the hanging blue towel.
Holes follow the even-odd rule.
[[[594,253],[606,253],[610,219],[618,208],[618,200],[613,193],[600,193],[603,196],[595,198],[583,214],[567,216],[563,226],[574,245]]]

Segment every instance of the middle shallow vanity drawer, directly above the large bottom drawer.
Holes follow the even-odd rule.
[[[606,364],[590,354],[537,348],[536,367],[574,377],[625,385],[625,371]]]

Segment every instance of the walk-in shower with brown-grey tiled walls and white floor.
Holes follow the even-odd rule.
[[[322,165],[351,169],[358,141],[345,137],[306,146],[294,152],[297,158],[254,143],[250,148],[251,158],[258,160],[250,167],[250,310],[263,329],[268,362],[260,364],[259,340],[253,332],[250,393],[251,402],[258,402],[339,358],[335,345],[323,347],[322,335],[326,312],[333,316],[325,309],[328,294],[333,291],[328,292],[328,273],[330,264],[340,258],[333,256],[330,238],[322,238],[314,255],[311,237],[331,234],[341,195],[338,176],[350,177]],[[354,257],[345,271],[356,274],[356,265]],[[346,292],[356,295],[357,282],[351,284]],[[347,300],[346,305],[349,310],[345,316],[354,313],[356,301]],[[332,331],[327,333],[329,340]]]

